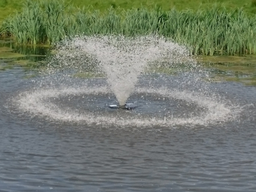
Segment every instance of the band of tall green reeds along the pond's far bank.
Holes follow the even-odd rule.
[[[4,20],[0,33],[17,44],[53,44],[76,35],[158,34],[186,44],[191,54],[243,55],[256,53],[256,15],[241,9],[228,12],[215,5],[193,12],[110,8],[104,13],[67,6],[64,0],[27,0],[21,13]]]

